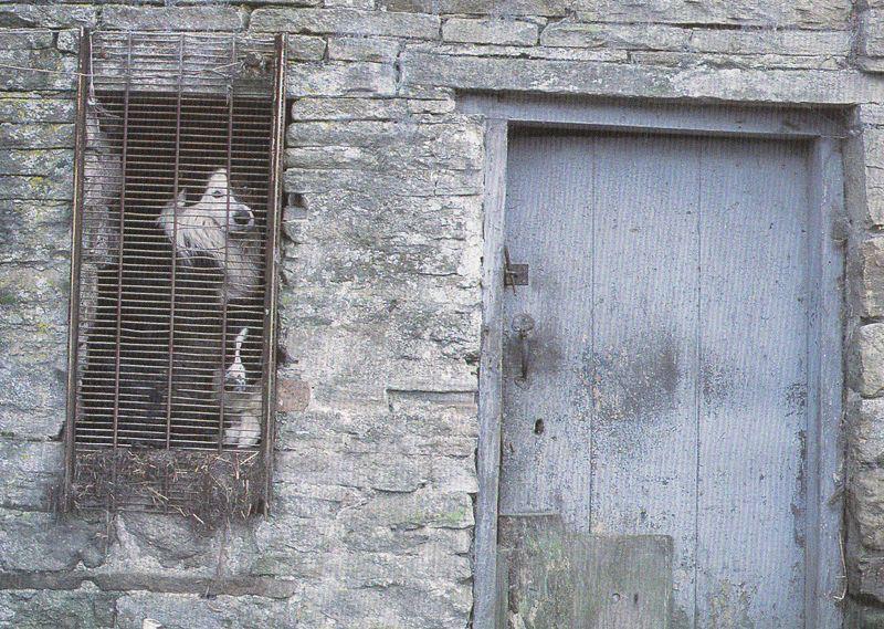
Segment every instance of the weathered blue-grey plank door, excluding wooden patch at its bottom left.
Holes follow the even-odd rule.
[[[676,628],[806,626],[810,148],[511,136],[502,521],[671,537]]]

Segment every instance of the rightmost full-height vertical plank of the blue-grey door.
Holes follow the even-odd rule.
[[[707,139],[698,627],[803,622],[807,146]]]

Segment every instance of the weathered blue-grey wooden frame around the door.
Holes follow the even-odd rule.
[[[463,94],[459,109],[485,118],[482,346],[478,378],[478,496],[473,574],[473,627],[494,629],[497,516],[503,420],[503,292],[506,165],[515,126],[804,139],[812,145],[809,199],[806,629],[843,625],[843,339],[846,210],[842,140],[844,109],[741,107],[624,102],[570,96]],[[831,325],[838,322],[838,325]]]

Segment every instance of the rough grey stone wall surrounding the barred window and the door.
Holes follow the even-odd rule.
[[[0,627],[471,623],[483,120],[464,91],[850,114],[851,627],[884,627],[884,0],[0,4]],[[288,32],[274,513],[60,518],[81,27]]]

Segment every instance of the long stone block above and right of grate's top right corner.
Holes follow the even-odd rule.
[[[292,32],[332,35],[376,35],[434,40],[440,20],[415,15],[355,9],[255,9],[249,22],[254,32]]]

